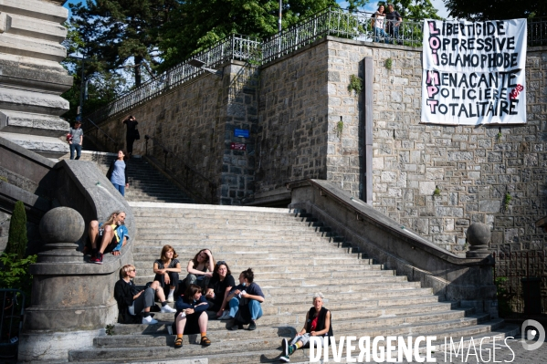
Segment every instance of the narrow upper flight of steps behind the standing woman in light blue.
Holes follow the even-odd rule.
[[[115,153],[102,151],[82,151],[80,161],[95,161],[100,170],[106,174],[110,162],[117,157]],[[60,159],[69,159],[67,154]],[[156,203],[193,203],[192,199],[179,190],[174,183],[165,178],[152,165],[140,156],[131,158],[129,168],[129,188],[125,189],[127,201],[148,201]]]

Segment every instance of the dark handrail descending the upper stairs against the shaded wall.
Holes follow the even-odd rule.
[[[146,145],[146,157],[150,158],[163,171],[172,176],[174,181],[180,183],[185,192],[191,193],[200,203],[216,203],[216,183],[209,180],[202,173],[197,172],[176,156],[173,151],[163,146],[158,140],[149,135],[144,136]],[[152,145],[149,145],[152,140]]]

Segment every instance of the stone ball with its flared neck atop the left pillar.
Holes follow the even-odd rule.
[[[40,235],[45,241],[44,251],[38,254],[39,263],[69,263],[82,260],[77,251],[85,222],[78,211],[70,207],[49,210],[40,220]]]

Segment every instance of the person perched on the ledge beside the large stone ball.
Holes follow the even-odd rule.
[[[91,243],[91,257],[89,263],[102,264],[105,251],[112,255],[120,255],[121,247],[129,240],[129,231],[124,225],[125,213],[115,211],[104,223],[93,220],[89,223],[89,242]]]

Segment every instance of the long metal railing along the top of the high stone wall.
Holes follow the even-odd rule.
[[[253,64],[262,65],[323,36],[421,47],[423,20],[403,19],[402,22],[398,22],[384,19],[384,26],[378,28],[377,25],[374,26],[372,16],[373,13],[328,8],[279,34],[268,37],[264,42],[249,36],[232,35],[213,47],[197,53],[191,59],[203,61],[206,68],[216,68],[230,59],[253,60]],[[546,18],[528,20],[528,44],[529,46],[547,45]],[[203,68],[195,68],[188,64],[191,59],[152,78],[141,87],[131,90],[120,99],[89,114],[88,117],[98,122],[106,120],[203,74],[205,72]]]

